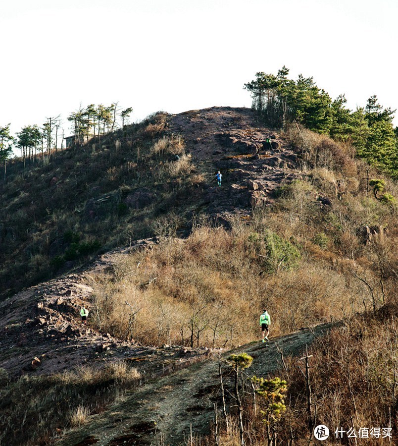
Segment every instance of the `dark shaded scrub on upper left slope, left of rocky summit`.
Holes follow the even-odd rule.
[[[165,121],[157,113],[98,135],[54,153],[46,166],[10,163],[0,183],[3,298],[127,244],[132,233],[153,235],[151,223],[166,209],[186,222],[184,200],[203,177],[182,138],[165,134]]]

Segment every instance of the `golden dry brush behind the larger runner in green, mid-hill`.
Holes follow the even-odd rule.
[[[265,229],[258,220],[252,224],[261,240]],[[301,246],[297,267],[269,274],[250,241],[252,229],[200,226],[187,240],[165,238],[150,251],[120,257],[114,282],[93,283],[100,328],[143,343],[229,347],[258,337],[264,306],[273,335],[363,309],[364,286],[347,280],[352,262],[339,263],[311,244],[311,250]]]

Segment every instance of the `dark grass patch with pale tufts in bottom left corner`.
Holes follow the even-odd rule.
[[[0,444],[48,444],[68,427],[80,426],[126,389],[140,373],[125,362],[102,369],[79,367],[51,376],[22,376],[0,386]]]

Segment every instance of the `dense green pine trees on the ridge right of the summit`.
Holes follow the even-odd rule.
[[[365,107],[349,110],[345,95],[334,101],[320,89],[312,77],[301,74],[289,79],[289,69],[282,67],[276,75],[258,72],[244,89],[252,97],[252,107],[261,119],[276,128],[289,123],[330,135],[346,142],[356,155],[393,178],[398,178],[398,127],[394,128],[395,110],[383,108],[371,96]]]

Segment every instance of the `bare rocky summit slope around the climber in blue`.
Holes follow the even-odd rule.
[[[170,129],[183,137],[195,166],[206,173],[207,212],[221,221],[272,203],[277,187],[300,177],[297,153],[278,133],[257,127],[250,109],[187,111],[171,116]],[[221,188],[215,181],[217,170],[223,175]]]

